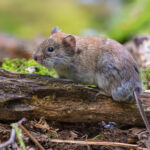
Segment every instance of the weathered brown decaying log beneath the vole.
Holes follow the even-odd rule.
[[[0,69],[0,120],[45,116],[63,122],[115,121],[143,125],[135,103],[117,103],[99,95],[98,89],[79,86],[67,79]],[[150,94],[141,95],[150,120]]]

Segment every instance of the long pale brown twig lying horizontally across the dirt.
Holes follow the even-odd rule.
[[[59,139],[51,139],[50,142],[79,144],[79,145],[105,145],[105,146],[125,147],[125,148],[133,148],[133,149],[138,148],[138,145],[117,143],[117,142],[73,141],[73,140],[59,140]]]

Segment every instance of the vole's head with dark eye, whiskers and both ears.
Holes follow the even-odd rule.
[[[46,67],[59,69],[72,60],[75,49],[75,37],[59,32],[58,28],[54,27],[50,37],[40,44],[33,58]]]

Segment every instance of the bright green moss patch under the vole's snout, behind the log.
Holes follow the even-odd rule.
[[[36,66],[37,69],[33,73],[41,74],[41,75],[50,75],[52,77],[57,77],[54,70],[49,70],[46,67],[41,66],[37,62],[35,62],[33,59],[26,60],[26,59],[8,59],[6,58],[4,60],[4,63],[2,64],[1,68],[12,71],[12,72],[19,72],[19,73],[29,73],[27,71],[28,67]]]

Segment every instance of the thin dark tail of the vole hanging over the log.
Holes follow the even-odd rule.
[[[134,97],[135,97],[135,100],[136,100],[136,103],[137,103],[137,106],[139,108],[139,111],[140,111],[140,114],[141,114],[141,117],[145,123],[145,126],[146,126],[146,129],[147,131],[150,133],[150,124],[147,120],[147,117],[146,117],[146,114],[144,112],[144,109],[142,107],[142,103],[141,103],[141,100],[140,100],[140,96],[139,96],[139,90],[138,89],[135,89],[134,90]]]

